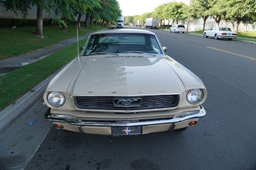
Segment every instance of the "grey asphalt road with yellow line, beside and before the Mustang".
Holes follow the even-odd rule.
[[[256,45],[150,31],[166,54],[204,82],[207,115],[172,135],[112,137],[51,128],[26,170],[256,170]]]

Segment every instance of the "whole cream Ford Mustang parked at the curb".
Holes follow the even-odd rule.
[[[124,136],[186,130],[206,115],[203,82],[138,29],[91,34],[49,83],[44,117],[57,129]]]

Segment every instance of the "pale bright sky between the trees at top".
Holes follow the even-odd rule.
[[[153,12],[154,8],[163,3],[170,3],[174,0],[116,0],[122,10],[122,16],[142,15],[146,12]],[[175,0],[189,4],[189,0]]]

